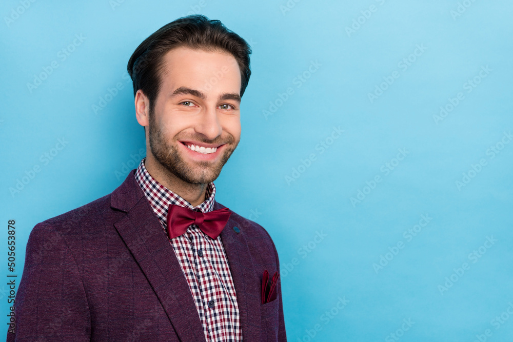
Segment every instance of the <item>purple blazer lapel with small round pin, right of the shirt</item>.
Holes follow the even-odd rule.
[[[218,202],[214,203],[214,210],[221,208],[225,206]],[[250,227],[235,222],[232,216],[228,219],[220,236],[235,286],[243,338],[246,341],[257,341],[260,340],[261,329],[261,283],[253,267],[254,263],[246,240],[245,230]],[[239,233],[234,230],[234,227],[239,228]]]

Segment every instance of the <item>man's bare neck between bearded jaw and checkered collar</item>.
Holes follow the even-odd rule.
[[[208,184],[190,184],[185,182],[169,172],[151,154],[147,154],[144,166],[157,182],[185,199],[193,207],[205,202]]]

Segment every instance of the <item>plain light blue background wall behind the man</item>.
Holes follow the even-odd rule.
[[[513,338],[511,2],[27,3],[0,5],[2,279],[8,219],[19,277],[35,224],[110,193],[139,162],[128,59],[156,29],[200,13],[253,49],[242,140],[216,199],[273,238],[288,340]],[[58,139],[68,143],[52,150]]]

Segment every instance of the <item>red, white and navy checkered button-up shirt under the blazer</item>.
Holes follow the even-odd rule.
[[[135,179],[159,217],[164,231],[170,204],[203,213],[212,211],[215,195],[213,182],[207,186],[205,202],[192,207],[187,200],[157,182],[146,170],[145,160],[146,158],[143,158],[137,167]],[[205,340],[242,341],[239,307],[221,236],[214,240],[203,233],[198,225],[190,225],[185,234],[169,239],[169,243],[189,284]],[[208,303],[211,300],[213,307],[209,308]]]

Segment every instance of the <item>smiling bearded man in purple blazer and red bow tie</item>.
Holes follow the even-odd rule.
[[[250,53],[201,15],[137,47],[147,157],[111,194],[34,227],[8,341],[286,340],[271,237],[214,199]]]

